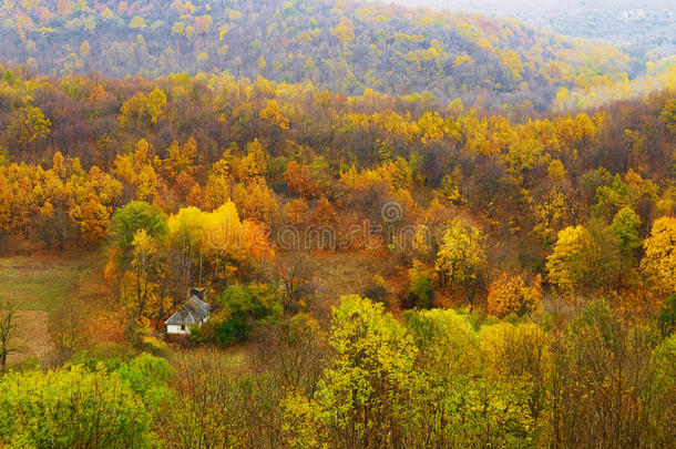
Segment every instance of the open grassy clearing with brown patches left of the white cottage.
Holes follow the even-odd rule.
[[[17,309],[9,364],[50,366],[57,357],[52,327],[68,314],[90,341],[117,340],[119,322],[103,279],[100,252],[0,256],[0,298]]]

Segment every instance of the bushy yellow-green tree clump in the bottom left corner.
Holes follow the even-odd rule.
[[[150,448],[151,419],[116,374],[82,366],[0,378],[0,440],[10,447]]]

